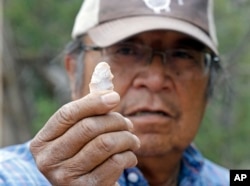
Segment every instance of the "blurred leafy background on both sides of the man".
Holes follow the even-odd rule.
[[[63,49],[81,0],[4,1],[2,146],[22,143],[70,100]],[[196,145],[228,168],[250,168],[250,1],[215,0],[218,79]],[[227,83],[226,83],[227,82]]]

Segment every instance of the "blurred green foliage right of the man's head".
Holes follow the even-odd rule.
[[[249,9],[247,0],[215,1],[219,50],[228,84],[222,81],[217,87],[195,140],[208,158],[229,168],[250,168]]]

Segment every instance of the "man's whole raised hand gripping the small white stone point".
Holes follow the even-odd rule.
[[[116,92],[91,93],[60,108],[30,144],[39,170],[53,185],[115,185],[137,163],[133,124],[110,112]]]

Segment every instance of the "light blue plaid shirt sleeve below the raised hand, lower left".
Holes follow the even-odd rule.
[[[0,185],[49,185],[39,172],[29,142],[0,149]]]

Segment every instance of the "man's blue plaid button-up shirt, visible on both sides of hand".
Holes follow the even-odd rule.
[[[29,150],[29,142],[0,150],[0,186],[49,186],[39,172]],[[124,170],[120,186],[147,186],[147,180],[136,167]],[[229,171],[202,157],[189,146],[183,153],[178,186],[229,186]]]

